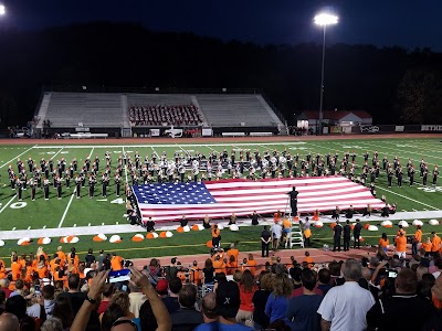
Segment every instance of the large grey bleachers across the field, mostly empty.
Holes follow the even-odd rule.
[[[78,124],[124,129],[171,125],[244,127],[244,132],[252,127],[284,127],[260,94],[45,92],[36,116],[38,128],[49,120],[54,129],[75,129]]]

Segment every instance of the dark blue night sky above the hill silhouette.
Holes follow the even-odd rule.
[[[339,17],[327,43],[431,47],[442,52],[440,0],[0,0],[0,26],[48,26],[115,21],[244,42],[322,42],[313,17],[326,8]]]

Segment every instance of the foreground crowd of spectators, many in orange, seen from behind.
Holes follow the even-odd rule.
[[[13,254],[10,271],[0,263],[0,330],[442,330],[439,253],[324,264],[305,256],[260,267],[253,255],[240,264],[231,245],[203,266],[152,258],[137,270],[104,252]],[[130,281],[108,281],[126,268]]]

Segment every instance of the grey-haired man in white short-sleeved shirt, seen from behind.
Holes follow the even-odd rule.
[[[367,329],[366,314],[375,305],[375,298],[358,284],[362,276],[359,261],[346,260],[341,271],[346,282],[329,289],[317,310],[322,317],[322,331],[364,331]]]

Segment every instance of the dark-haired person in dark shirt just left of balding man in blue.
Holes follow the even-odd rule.
[[[197,288],[193,285],[188,284],[180,289],[178,301],[179,309],[170,314],[173,330],[189,330],[204,322],[201,312],[196,310]]]

